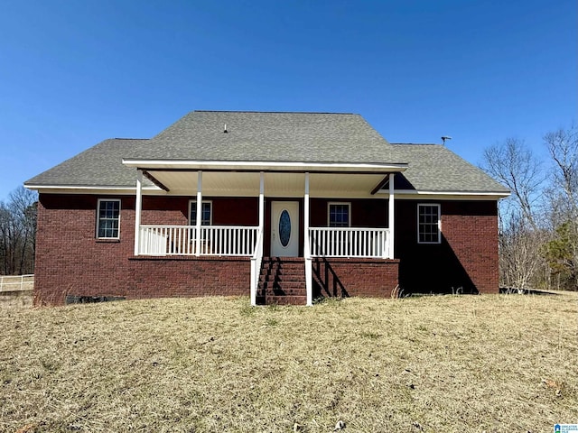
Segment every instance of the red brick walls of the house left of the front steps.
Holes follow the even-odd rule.
[[[120,198],[120,239],[97,240],[98,198]],[[144,224],[187,224],[189,198],[145,197]],[[216,224],[250,224],[256,200],[215,199]],[[219,207],[226,206],[228,217]],[[162,207],[163,210],[154,210]],[[218,213],[219,212],[219,213]],[[254,217],[256,225],[257,217]],[[202,296],[247,294],[250,264],[247,258],[135,259],[135,198],[122,196],[41,194],[38,206],[34,302],[60,305],[67,294],[80,296]],[[218,263],[217,263],[218,262]]]

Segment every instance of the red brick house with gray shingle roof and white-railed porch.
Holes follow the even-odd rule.
[[[194,111],[25,182],[35,302],[79,297],[497,293],[508,189],[440,144],[360,115]]]

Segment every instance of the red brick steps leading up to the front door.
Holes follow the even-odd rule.
[[[303,257],[264,257],[256,293],[257,303],[304,305],[306,303]]]

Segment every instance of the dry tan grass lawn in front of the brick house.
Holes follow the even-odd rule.
[[[578,421],[577,301],[0,298],[0,430],[552,431]]]

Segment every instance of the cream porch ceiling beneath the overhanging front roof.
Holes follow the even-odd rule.
[[[147,170],[171,195],[197,193],[197,171]],[[364,198],[387,176],[386,173],[311,173],[310,197]],[[303,197],[305,175],[299,172],[266,172],[265,195]],[[255,197],[259,194],[258,172],[203,171],[202,194],[213,197]]]

